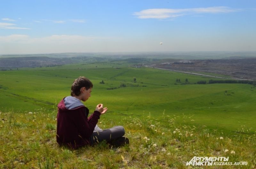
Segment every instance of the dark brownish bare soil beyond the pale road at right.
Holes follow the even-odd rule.
[[[256,58],[218,60],[170,60],[151,67],[186,72],[228,75],[231,78],[256,80]]]

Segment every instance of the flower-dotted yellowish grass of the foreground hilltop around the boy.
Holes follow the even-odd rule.
[[[144,114],[117,121],[102,115],[99,127],[123,125],[130,144],[113,148],[102,142],[78,150],[56,143],[56,111],[2,112],[0,116],[0,168],[187,168],[186,162],[194,156],[229,157],[228,162],[248,163],[224,168],[256,166],[255,132],[249,134],[251,131],[241,128],[247,134],[230,136],[205,126],[177,123],[185,116]]]

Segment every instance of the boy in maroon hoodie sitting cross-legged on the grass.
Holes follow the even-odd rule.
[[[115,126],[102,130],[97,123],[100,115],[108,110],[102,104],[88,117],[89,109],[81,102],[91,96],[92,82],[85,78],[77,78],[71,87],[71,96],[63,98],[58,104],[56,139],[60,145],[77,149],[85,145],[94,145],[106,140],[110,145],[121,146],[129,144],[124,136],[124,127]]]

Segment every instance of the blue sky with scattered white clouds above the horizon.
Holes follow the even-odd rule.
[[[255,51],[255,18],[253,0],[8,0],[0,54]]]

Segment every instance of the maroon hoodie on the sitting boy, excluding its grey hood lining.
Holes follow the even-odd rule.
[[[98,123],[100,112],[94,111],[88,117],[89,109],[79,106],[75,109],[65,107],[64,98],[58,104],[56,140],[60,145],[77,149],[89,145],[89,138]]]

